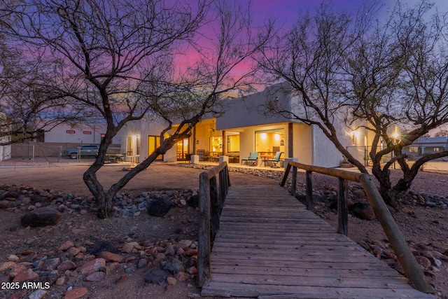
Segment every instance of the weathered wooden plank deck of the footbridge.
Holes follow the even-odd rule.
[[[435,298],[272,186],[230,188],[202,295]]]

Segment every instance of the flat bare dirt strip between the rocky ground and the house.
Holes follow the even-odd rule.
[[[97,173],[104,188],[109,188],[125,174],[123,164],[104,165]],[[9,185],[24,185],[35,188],[55,189],[59,192],[87,195],[89,190],[83,181],[87,165],[57,165],[42,167],[8,167],[0,168],[0,181]],[[155,162],[148,169],[137,174],[123,191],[141,193],[148,190],[183,190],[199,188],[199,176],[202,169],[179,167],[172,164]],[[251,176],[232,172],[232,183],[239,185],[277,184],[275,180],[261,176]]]

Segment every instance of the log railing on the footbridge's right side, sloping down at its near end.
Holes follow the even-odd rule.
[[[313,208],[313,188],[311,181],[312,172],[318,172],[320,174],[326,174],[329,176],[335,176],[339,178],[339,192],[337,193],[337,214],[338,214],[338,228],[337,232],[347,235],[348,231],[348,207],[347,207],[347,181],[356,181],[360,183],[367,195],[367,199],[372,206],[375,215],[381,227],[383,228],[386,236],[391,242],[391,246],[398,261],[400,262],[409,283],[423,293],[434,293],[433,288],[426,281],[421,267],[416,262],[416,259],[409,247],[407,246],[405,239],[403,239],[398,226],[396,225],[391,212],[386,207],[386,203],[379,194],[377,186],[372,181],[369,174],[360,174],[357,172],[349,172],[340,169],[318,167],[312,165],[305,165],[299,162],[289,161],[286,167],[281,186],[285,186],[286,179],[290,172],[290,168],[293,167],[291,195],[295,196],[295,188],[297,183],[297,168],[306,170],[306,200],[307,209],[312,211]]]

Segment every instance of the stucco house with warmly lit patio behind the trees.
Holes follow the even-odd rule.
[[[180,141],[159,160],[188,160],[190,155],[205,151],[216,157],[238,157],[231,162],[240,162],[251,152],[258,152],[261,158],[272,157],[280,151],[282,159],[290,158],[322,167],[339,167],[341,153],[318,127],[273,113],[262,113],[262,104],[272,99],[289,109],[297,109],[294,106],[295,96],[279,88],[266,88],[246,97],[224,99],[225,111],[222,116],[204,118],[195,126],[190,138]],[[346,130],[340,120],[335,120],[335,126],[343,143],[349,146],[350,130]],[[157,120],[132,122],[122,130],[122,148],[128,155],[144,160],[160,144],[163,128],[165,124]]]

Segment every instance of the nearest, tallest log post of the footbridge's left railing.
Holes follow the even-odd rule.
[[[199,177],[199,235],[197,243],[197,281],[203,286],[210,276],[210,179],[207,172]]]

